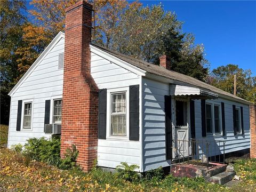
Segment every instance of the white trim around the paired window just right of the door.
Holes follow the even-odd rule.
[[[207,133],[207,127],[206,127],[206,135],[207,136],[219,136],[222,135],[222,111],[221,111],[221,105],[219,102],[214,102],[214,101],[206,101],[205,103],[205,121],[206,121],[206,105],[211,105],[211,112],[212,112],[212,133]],[[215,117],[214,117],[214,106],[219,106],[219,120],[220,120],[220,132],[215,133]],[[205,122],[206,123],[206,122]]]

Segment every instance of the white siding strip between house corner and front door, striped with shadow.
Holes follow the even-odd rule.
[[[169,166],[165,156],[164,95],[169,85],[142,78],[143,171]]]

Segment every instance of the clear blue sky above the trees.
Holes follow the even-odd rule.
[[[140,1],[161,3],[183,21],[183,33],[204,44],[210,70],[229,63],[256,76],[256,1]],[[28,9],[31,9],[27,2]]]

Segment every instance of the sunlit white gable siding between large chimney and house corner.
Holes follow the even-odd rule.
[[[140,76],[116,63],[91,53],[91,74],[99,89],[113,89],[138,85]],[[121,162],[141,164],[141,142],[127,140],[98,140],[98,165],[115,168]],[[140,171],[138,169],[137,171]]]

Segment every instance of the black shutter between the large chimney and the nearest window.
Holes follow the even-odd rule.
[[[98,118],[98,138],[106,139],[107,125],[107,89],[99,91],[99,118]]]

